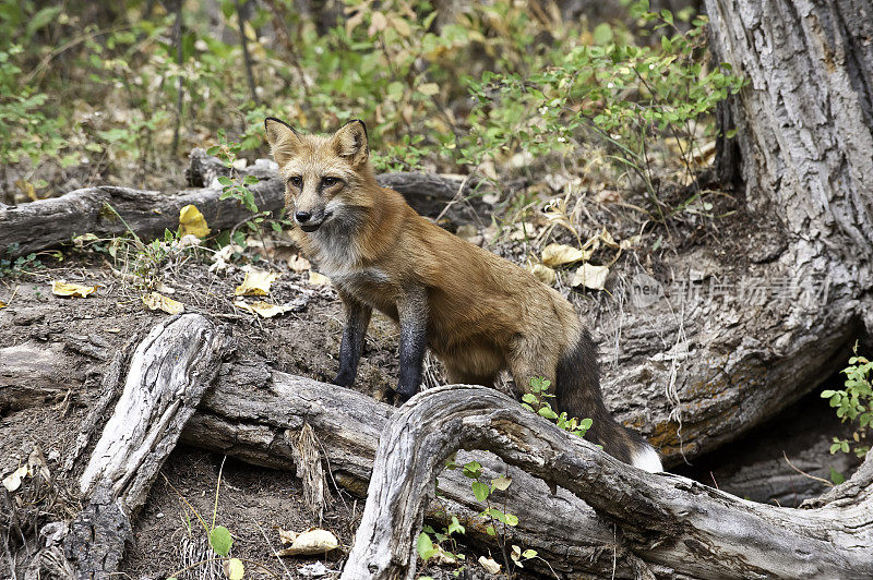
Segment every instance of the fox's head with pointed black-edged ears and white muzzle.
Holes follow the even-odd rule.
[[[285,207],[303,231],[372,205],[367,192],[375,179],[363,121],[349,121],[331,136],[303,135],[273,117],[264,129],[285,181]]]

